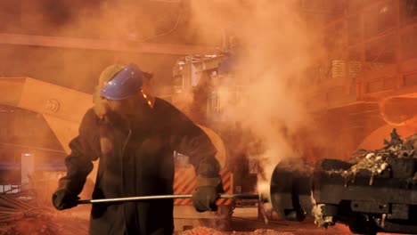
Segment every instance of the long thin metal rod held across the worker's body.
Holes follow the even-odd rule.
[[[87,199],[87,200],[78,200],[78,204],[128,202],[128,201],[157,200],[157,199],[191,199],[191,198],[192,198],[192,194],[176,194],[176,195],[127,197],[127,198],[117,198],[117,199]],[[256,194],[221,194],[219,198],[220,199],[260,199],[259,195],[256,195]]]

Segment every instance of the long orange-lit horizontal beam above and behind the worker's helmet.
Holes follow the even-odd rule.
[[[144,43],[135,40],[110,40],[97,38],[78,38],[64,36],[34,36],[18,34],[0,34],[0,44],[5,45],[37,45],[61,48],[77,48],[87,50],[105,50],[129,53],[157,54],[210,54],[216,53],[219,47],[200,45],[174,45]]]

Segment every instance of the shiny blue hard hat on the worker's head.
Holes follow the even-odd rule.
[[[111,78],[100,94],[109,100],[123,100],[138,93],[142,84],[143,72],[132,63]]]

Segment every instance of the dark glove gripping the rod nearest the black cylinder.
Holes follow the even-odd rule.
[[[216,201],[223,192],[220,178],[197,178],[197,189],[192,194],[192,206],[198,212],[217,211]]]

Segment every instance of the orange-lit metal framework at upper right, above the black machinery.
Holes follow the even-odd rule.
[[[392,24],[392,27],[384,27],[379,33],[369,36],[366,35],[366,24],[372,20],[372,14],[369,12],[379,9],[378,7],[383,7],[384,5],[389,5],[393,7],[395,22]],[[358,20],[358,24],[355,26],[349,25],[349,19],[355,18]],[[358,27],[358,28],[357,28]],[[352,38],[352,28],[355,28],[359,31],[358,38]],[[401,11],[401,1],[400,0],[379,0],[371,1],[356,12],[345,12],[342,16],[331,22],[327,23],[323,31],[329,33],[334,32],[334,30],[342,30],[342,45],[337,48],[339,52],[342,53],[341,59],[345,61],[343,81],[331,81],[326,83],[323,87],[323,90],[328,90],[331,87],[345,85],[347,95],[353,95],[354,100],[349,100],[347,103],[340,105],[347,105],[352,102],[357,101],[378,101],[384,99],[388,96],[397,96],[404,95],[405,93],[416,93],[417,89],[411,84],[406,84],[405,77],[417,73],[417,56],[415,58],[405,58],[404,52],[407,50],[405,45],[403,45],[402,38],[405,36],[417,34],[417,19],[411,19],[405,21],[404,14]],[[389,63],[384,68],[376,70],[366,70],[365,65],[370,61],[370,58],[367,58],[367,52],[371,50],[371,46],[393,38],[394,43],[392,47],[389,47],[390,51],[393,51],[395,54],[395,60],[393,63]],[[355,39],[355,42],[351,42],[352,39]],[[360,59],[353,60],[351,54],[354,52],[359,53]],[[361,72],[357,77],[352,77],[349,74],[349,62],[350,61],[359,61],[361,64]],[[388,81],[389,80],[389,81]],[[389,85],[388,85],[389,84]],[[391,85],[392,84],[392,85]],[[372,88],[372,85],[378,87]]]

